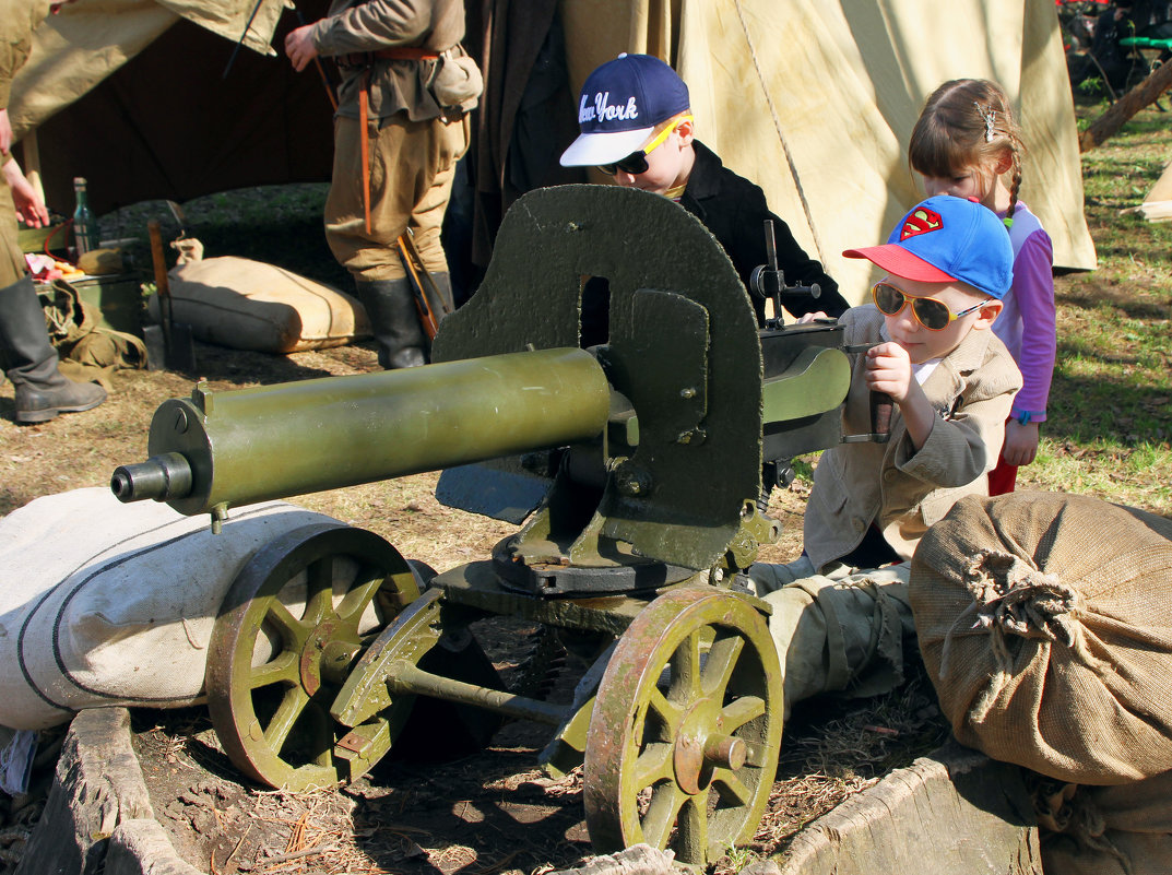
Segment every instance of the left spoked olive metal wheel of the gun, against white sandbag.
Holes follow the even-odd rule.
[[[273,787],[338,784],[349,731],[329,716],[354,662],[420,594],[410,566],[379,535],[331,524],[258,551],[229,589],[205,685],[220,744]]]

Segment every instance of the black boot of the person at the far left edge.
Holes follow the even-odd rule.
[[[75,383],[57,370],[57,351],[30,276],[0,289],[0,358],[16,390],[18,423],[48,422],[105,401],[102,387]]]

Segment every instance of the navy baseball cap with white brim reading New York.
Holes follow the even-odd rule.
[[[652,55],[619,55],[597,68],[578,101],[581,135],[561,166],[613,164],[640,149],[655,125],[691,107],[688,87]]]

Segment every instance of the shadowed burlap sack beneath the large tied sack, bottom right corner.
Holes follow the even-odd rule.
[[[1034,788],[1047,875],[1167,875],[1172,772],[1136,784]]]

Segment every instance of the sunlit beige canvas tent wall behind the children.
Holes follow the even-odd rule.
[[[619,52],[668,61],[697,136],[755,179],[849,300],[868,283],[844,248],[886,238],[921,197],[907,170],[924,98],[949,78],[1000,82],[1029,146],[1022,198],[1059,267],[1095,267],[1074,103],[1050,0],[609,0],[563,6],[572,81]]]

